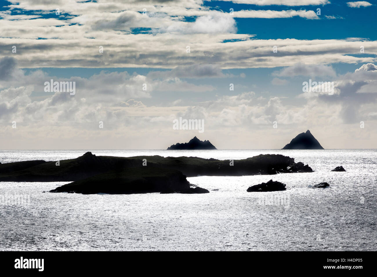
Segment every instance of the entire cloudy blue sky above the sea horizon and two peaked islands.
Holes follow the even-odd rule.
[[[324,148],[377,148],[376,14],[376,1],[0,0],[0,149],[194,136],[280,149],[308,129]]]

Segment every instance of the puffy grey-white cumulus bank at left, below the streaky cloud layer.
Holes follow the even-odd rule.
[[[171,113],[185,110],[145,105],[141,99],[151,98],[153,92],[206,92],[214,89],[210,85],[195,85],[177,77],[155,80],[126,71],[101,71],[88,78],[58,78],[41,70],[26,74],[12,63],[12,59],[0,60],[0,68],[3,75],[9,76],[0,84],[0,88],[8,87],[0,90],[0,124],[7,126],[15,120],[26,130],[39,128],[40,132],[59,127],[62,128],[60,131],[54,129],[59,133],[64,126],[94,132],[98,121],[106,122],[107,129],[117,129],[124,124],[148,127],[156,118],[166,121]],[[8,74],[9,69],[16,73]],[[75,95],[61,91],[45,92],[44,82],[51,79],[75,82]]]

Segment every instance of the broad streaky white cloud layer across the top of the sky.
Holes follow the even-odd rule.
[[[255,1],[257,5],[302,6],[302,1]],[[77,2],[12,0],[12,9],[30,10],[50,18],[20,17],[2,12],[0,55],[16,57],[21,68],[33,67],[149,67],[175,68],[211,64],[219,69],[305,64],[372,63],[374,57],[355,57],[363,40],[367,54],[377,52],[377,41],[254,39],[237,34],[229,12],[210,11],[202,1]],[[327,1],[310,0],[307,5]],[[57,6],[61,15],[55,17]],[[147,9],[144,15],[143,8]],[[245,17],[317,18],[311,10],[235,11]],[[73,16],[73,17],[72,17]],[[191,22],[185,16],[196,16]],[[135,32],[134,28],[141,28]],[[22,31],[20,31],[22,30]],[[43,38],[43,39],[37,39]],[[227,42],[224,42],[227,41]],[[98,51],[103,46],[103,53]],[[190,46],[190,53],[186,47]],[[272,47],[278,47],[273,53]],[[168,57],[168,58],[167,58]],[[178,72],[177,72],[178,74]],[[179,77],[179,76],[177,76]],[[183,78],[183,77],[179,77]]]

